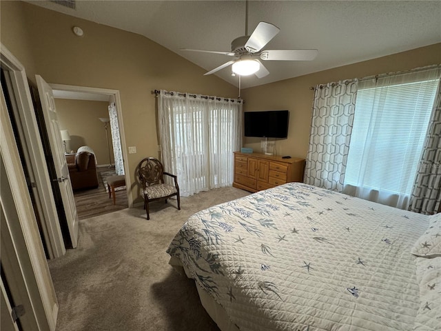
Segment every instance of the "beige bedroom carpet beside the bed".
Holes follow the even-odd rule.
[[[79,245],[49,261],[60,305],[57,331],[218,330],[194,281],[168,265],[170,241],[189,216],[249,194],[220,188],[81,220]]]

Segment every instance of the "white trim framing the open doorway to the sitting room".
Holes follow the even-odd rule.
[[[118,115],[118,125],[119,125],[119,134],[121,139],[121,150],[123,152],[123,161],[124,161],[124,174],[125,174],[125,183],[131,183],[130,179],[130,170],[129,163],[127,162],[127,144],[125,143],[125,132],[124,132],[124,123],[123,123],[123,108],[121,106],[121,97],[119,94],[119,90],[111,90],[107,88],[90,88],[87,86],[73,86],[73,85],[64,85],[64,84],[56,84],[49,83],[52,90],[61,90],[68,92],[86,92],[86,93],[95,93],[95,94],[104,94],[108,97],[114,97],[114,102],[116,105],[116,114]],[[127,203],[130,208],[133,207],[133,199],[132,194],[130,194],[130,185],[127,185]]]

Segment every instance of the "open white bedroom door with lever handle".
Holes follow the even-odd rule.
[[[54,94],[52,88],[40,75],[36,74],[35,78],[37,79],[45,127],[48,131],[50,150],[54,160],[55,171],[57,172],[57,179],[52,180],[56,180],[59,183],[72,248],[76,248],[78,243],[78,214],[76,213],[74,194],[69,180],[68,163],[63,152],[63,139],[61,139]]]

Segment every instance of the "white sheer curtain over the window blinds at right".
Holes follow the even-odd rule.
[[[360,81],[343,192],[407,209],[439,69]]]

